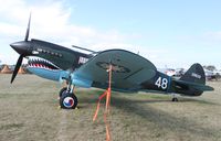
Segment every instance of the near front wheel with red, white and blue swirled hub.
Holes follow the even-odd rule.
[[[60,106],[63,109],[74,109],[77,106],[77,98],[73,93],[64,91],[60,98]]]

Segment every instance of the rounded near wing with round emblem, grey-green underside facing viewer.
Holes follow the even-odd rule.
[[[148,59],[124,50],[108,50],[98,53],[74,72],[80,79],[91,80],[92,87],[106,88],[108,74],[113,65],[112,87],[118,90],[136,90],[139,84],[156,75],[155,65]]]

